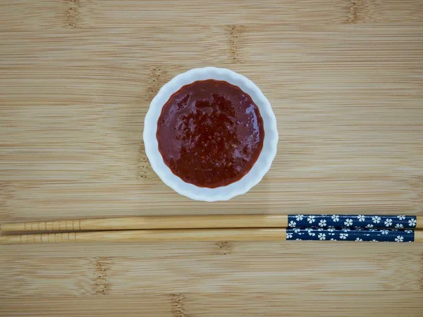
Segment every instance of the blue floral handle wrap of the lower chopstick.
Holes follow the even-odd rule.
[[[286,240],[414,242],[414,230],[294,228],[286,230]]]

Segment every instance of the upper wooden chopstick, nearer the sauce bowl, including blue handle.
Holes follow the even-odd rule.
[[[1,232],[51,232],[204,228],[422,229],[422,216],[391,215],[204,215],[144,216],[5,223]]]

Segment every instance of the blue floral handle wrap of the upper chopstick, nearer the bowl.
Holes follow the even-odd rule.
[[[414,229],[416,216],[288,215],[288,228]]]

